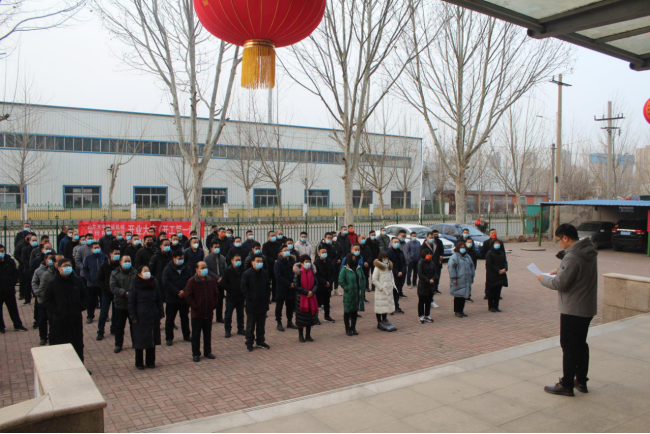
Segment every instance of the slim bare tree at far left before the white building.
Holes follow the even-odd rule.
[[[35,136],[39,122],[39,107],[35,104],[33,83],[24,80],[18,89],[20,105],[15,105],[6,127],[7,135],[3,158],[5,158],[4,177],[8,183],[18,186],[20,194],[20,216],[27,220],[27,187],[46,182],[47,160],[50,153],[46,149],[44,137]]]

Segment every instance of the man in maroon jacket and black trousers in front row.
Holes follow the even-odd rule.
[[[203,333],[203,355],[215,359],[212,354],[212,313],[217,307],[217,281],[208,276],[208,266],[201,261],[196,264],[196,273],[185,285],[185,301],[190,305],[192,317],[192,359],[201,360],[201,333]]]

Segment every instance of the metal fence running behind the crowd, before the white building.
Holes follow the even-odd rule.
[[[468,216],[467,222],[474,221],[476,216]],[[126,220],[129,218],[126,217]],[[100,218],[101,220],[101,218]],[[500,236],[515,236],[525,234],[537,234],[537,220],[538,216],[526,216],[525,222],[532,230],[526,230],[522,227],[521,219],[516,215],[500,214],[500,215],[487,215],[481,218],[483,222],[483,229],[488,230],[494,228]],[[273,215],[270,217],[259,218],[243,218],[236,216],[234,218],[206,218],[204,239],[212,231],[211,227],[225,227],[233,229],[236,235],[244,236],[247,230],[252,230],[256,240],[264,242],[267,239],[269,231],[282,230],[284,235],[289,238],[298,239],[300,232],[305,231],[309,234],[309,239],[312,242],[320,240],[325,232],[338,231],[343,224],[342,214],[335,214],[334,216],[327,217],[283,217],[277,218]],[[394,224],[422,224],[424,226],[433,226],[441,223],[455,223],[456,216],[454,215],[425,215],[422,219],[417,215],[386,215],[384,218],[380,216],[356,216],[354,225],[357,233],[368,234],[371,230],[378,231],[383,226]],[[55,241],[59,234],[59,229],[63,225],[76,227],[78,220],[71,219],[42,219],[30,220],[32,230],[41,235],[48,235],[50,240]],[[16,233],[22,232],[22,224],[20,220],[3,219],[2,233],[0,238],[2,244],[5,246],[8,253],[13,254],[14,239]],[[57,246],[58,247],[58,246]],[[55,247],[55,249],[57,248]]]

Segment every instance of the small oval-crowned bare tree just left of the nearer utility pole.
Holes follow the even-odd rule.
[[[526,225],[525,211],[521,204],[524,192],[529,192],[538,170],[542,166],[542,145],[545,135],[542,122],[537,116],[539,109],[530,100],[524,105],[514,104],[505,113],[504,122],[497,129],[497,140],[492,140],[491,168],[504,191],[515,196],[517,214],[522,228]],[[496,143],[495,143],[496,142]]]

